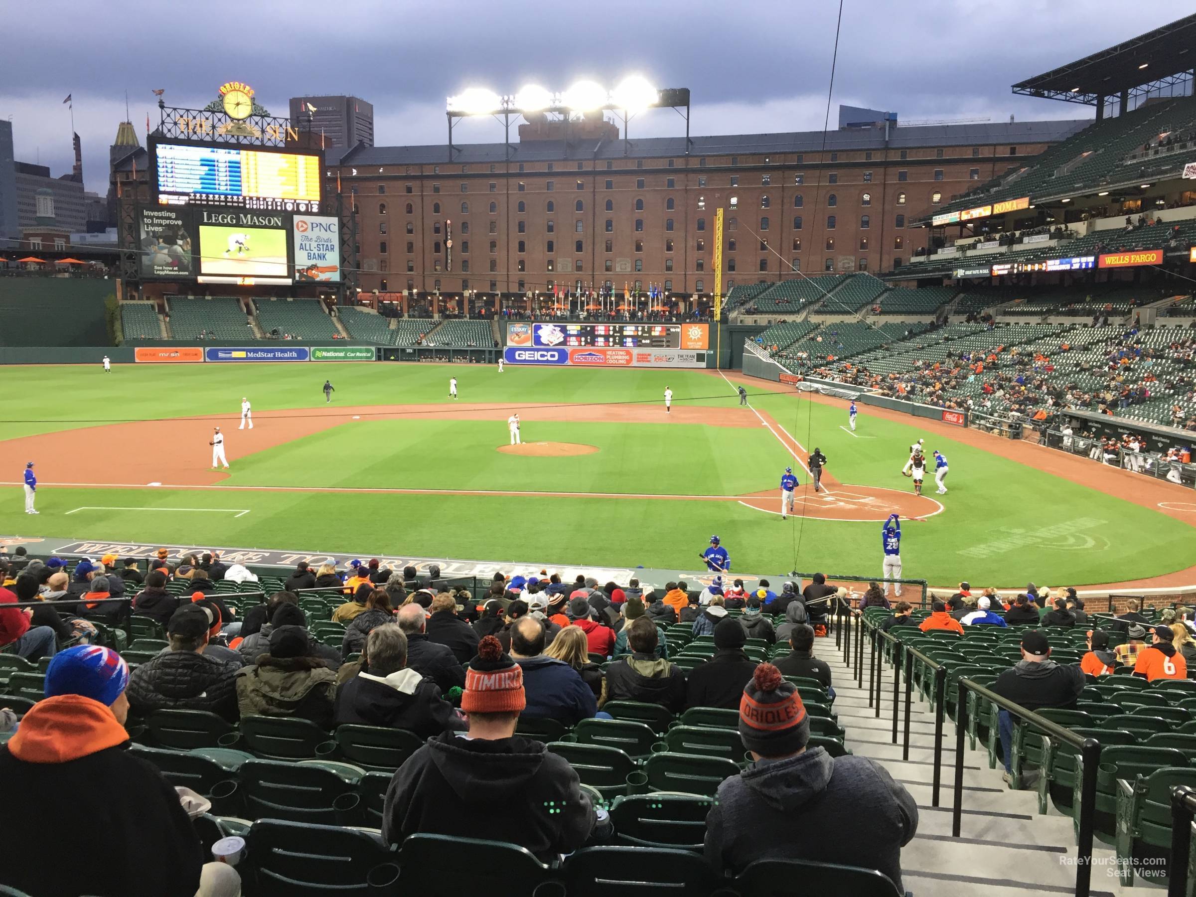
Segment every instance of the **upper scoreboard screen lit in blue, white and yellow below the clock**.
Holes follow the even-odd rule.
[[[319,157],[159,144],[158,202],[267,212],[319,212]]]

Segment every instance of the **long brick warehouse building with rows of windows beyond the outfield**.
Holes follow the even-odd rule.
[[[708,294],[721,206],[725,294],[791,263],[899,266],[929,233],[907,222],[1088,123],[902,127],[873,115],[829,132],[825,152],[822,132],[691,138],[687,153],[684,138],[624,141],[598,121],[572,123],[566,144],[561,122],[536,122],[509,146],[334,148],[327,167],[330,190],[354,199],[366,292]]]

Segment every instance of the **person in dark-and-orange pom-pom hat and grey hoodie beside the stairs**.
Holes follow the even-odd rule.
[[[755,761],[719,786],[706,819],[706,859],[721,874],[755,860],[817,860],[880,869],[904,892],[901,848],[917,804],[867,757],[807,750],[810,720],[792,683],[761,664],[745,683],[739,736]],[[860,820],[868,836],[854,837]]]

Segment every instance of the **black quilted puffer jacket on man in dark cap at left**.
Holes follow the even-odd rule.
[[[213,660],[194,651],[167,651],[141,664],[129,676],[129,704],[151,710],[210,710],[237,721],[237,664]]]

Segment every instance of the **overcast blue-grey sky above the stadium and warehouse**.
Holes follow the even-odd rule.
[[[373,103],[376,142],[443,144],[445,97],[468,86],[551,90],[579,78],[614,85],[640,73],[692,90],[692,133],[820,129],[837,2],[832,0],[41,0],[10,17],[0,54],[0,115],[17,158],[71,166],[74,97],[89,189],[108,187],[108,145],[124,93],[142,142],[152,89],[199,108],[227,80],[287,115],[301,94]],[[1128,8],[1133,14],[1128,14]],[[899,13],[897,11],[901,11]],[[903,121],[1078,118],[1092,109],[1014,97],[1009,85],[1191,12],[1177,0],[846,0],[831,108],[892,110]],[[684,133],[672,110],[631,122],[633,138]],[[459,142],[502,139],[471,120]]]

